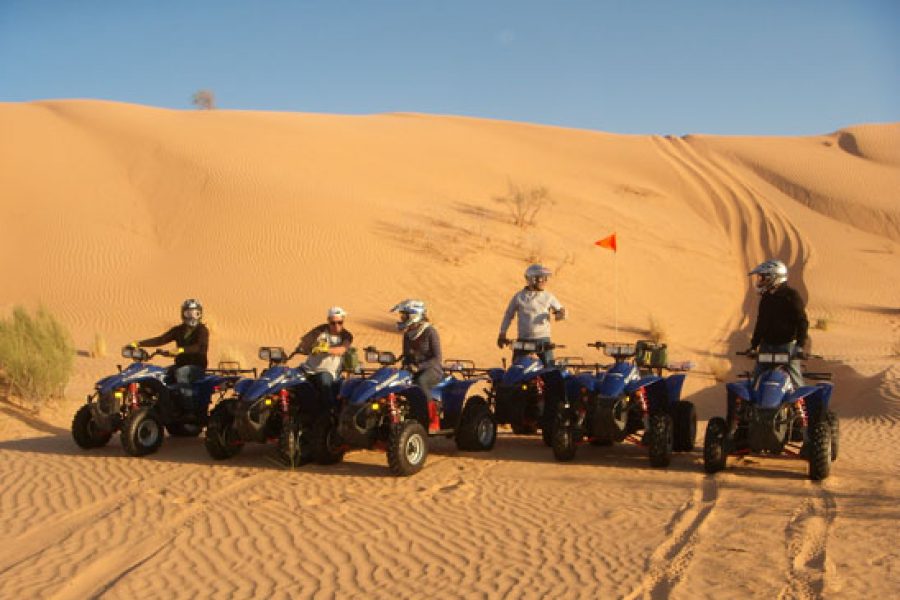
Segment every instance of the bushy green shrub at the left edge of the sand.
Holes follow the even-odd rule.
[[[0,320],[0,369],[13,393],[34,402],[61,396],[74,360],[72,336],[45,308],[32,316],[17,306]]]

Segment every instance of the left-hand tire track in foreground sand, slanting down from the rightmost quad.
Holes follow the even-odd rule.
[[[703,477],[691,499],[672,516],[666,526],[666,541],[647,559],[646,575],[638,588],[625,596],[626,599],[668,598],[671,595],[694,558],[700,533],[718,499],[716,479]]]

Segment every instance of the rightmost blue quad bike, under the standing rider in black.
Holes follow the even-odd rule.
[[[814,385],[795,388],[786,352],[738,352],[755,358],[760,370],[745,372],[726,388],[732,408],[728,419],[713,417],[706,426],[703,467],[707,473],[725,468],[729,456],[787,456],[806,460],[809,478],[822,480],[838,457],[840,425],[830,409],[831,373],[806,372]],[[802,356],[802,355],[800,355]],[[821,356],[808,356],[821,358]]]

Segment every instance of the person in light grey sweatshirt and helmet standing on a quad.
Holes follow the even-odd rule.
[[[497,346],[502,348],[509,340],[506,331],[512,323],[513,317],[518,321],[518,339],[534,342],[550,342],[550,315],[557,321],[566,318],[566,309],[560,304],[556,296],[544,289],[552,272],[543,265],[531,265],[525,269],[524,289],[519,290],[509,301],[503,321],[500,323],[500,335],[497,336]],[[513,358],[521,354],[516,351]],[[541,353],[541,361],[545,366],[553,364],[553,350],[545,350]]]

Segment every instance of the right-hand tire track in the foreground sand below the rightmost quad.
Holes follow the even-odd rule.
[[[804,500],[791,515],[784,529],[787,581],[778,600],[823,597],[828,570],[828,533],[836,516],[837,503],[825,489]]]

